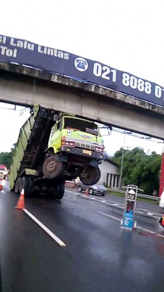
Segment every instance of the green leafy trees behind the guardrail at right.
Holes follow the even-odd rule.
[[[112,160],[121,169],[122,159],[121,148]],[[155,189],[159,189],[159,174],[161,167],[161,155],[152,152],[151,155],[145,154],[139,147],[133,150],[124,150],[122,180],[125,185],[134,184],[144,190],[145,194],[152,194]]]

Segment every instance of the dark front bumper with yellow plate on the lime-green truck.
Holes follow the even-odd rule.
[[[62,146],[61,147],[61,151],[62,152],[67,152],[67,153],[71,153],[71,154],[75,154],[75,155],[80,155],[80,156],[84,156],[84,157],[87,157],[87,158],[95,158],[95,159],[98,159],[98,160],[104,160],[104,155],[102,153],[98,153],[98,152],[95,152],[95,151],[90,151],[91,154],[85,154],[83,153],[83,151],[86,150],[86,149],[80,149],[80,148],[76,148],[76,147],[69,147],[69,146]],[[89,152],[88,152],[89,153]]]

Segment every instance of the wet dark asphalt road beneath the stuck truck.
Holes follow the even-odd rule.
[[[156,234],[164,236],[164,230],[158,219],[138,216],[139,229],[121,230],[122,210],[100,202],[110,196],[92,196],[100,200],[95,201],[75,192],[66,191],[61,202],[26,199],[26,209],[66,244],[61,247],[14,208],[18,196],[4,187],[0,193],[3,292],[163,292],[164,237]],[[118,202],[118,197],[114,199]],[[150,204],[145,204],[149,210]],[[151,205],[158,213],[157,207]]]

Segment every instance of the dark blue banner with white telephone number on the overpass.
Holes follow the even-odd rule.
[[[162,86],[63,50],[0,35],[0,60],[80,79],[164,106]]]

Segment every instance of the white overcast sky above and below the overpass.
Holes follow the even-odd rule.
[[[97,2],[2,2],[0,34],[81,55],[164,86],[163,0]],[[27,117],[28,113],[19,116],[19,107],[17,111],[0,109],[0,152],[11,148]],[[123,141],[124,135],[115,132],[104,136],[110,154]],[[125,145],[162,152],[162,144],[130,136]]]

